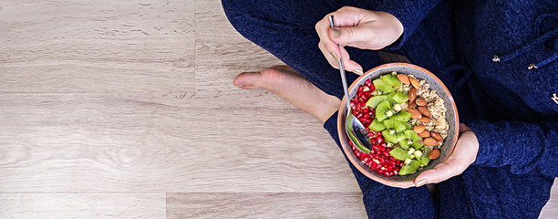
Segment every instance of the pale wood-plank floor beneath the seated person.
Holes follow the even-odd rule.
[[[366,217],[318,120],[233,87],[281,63],[219,0],[0,1],[0,218]]]

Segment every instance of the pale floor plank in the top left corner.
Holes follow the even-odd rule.
[[[0,92],[193,90],[193,5],[2,1]]]

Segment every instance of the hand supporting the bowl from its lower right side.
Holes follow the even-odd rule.
[[[479,140],[469,126],[460,124],[460,136],[455,149],[446,162],[440,163],[434,169],[422,172],[415,179],[415,184],[422,186],[426,183],[440,183],[464,172],[477,159]]]

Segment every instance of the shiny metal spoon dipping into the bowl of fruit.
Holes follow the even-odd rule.
[[[335,27],[333,16],[329,16],[329,26]],[[339,51],[341,51],[341,46],[337,44],[337,47],[339,47]],[[343,91],[345,91],[346,99],[346,135],[349,140],[353,141],[358,150],[369,153],[370,150],[372,150],[372,142],[370,141],[370,136],[368,136],[368,131],[365,126],[360,122],[360,120],[356,119],[353,113],[351,113],[351,104],[349,102],[350,96],[346,86],[345,68],[343,68],[343,61],[341,59],[341,54],[339,54],[339,73],[341,74],[341,80],[343,81]]]

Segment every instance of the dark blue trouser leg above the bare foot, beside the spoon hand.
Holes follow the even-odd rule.
[[[350,3],[326,0],[223,0],[222,5],[239,33],[279,57],[325,93],[339,99],[343,97],[339,71],[327,63],[317,47],[319,38],[314,26],[326,14],[344,5],[351,5]],[[362,4],[355,6],[365,7]],[[355,48],[347,50],[364,69],[383,63],[376,51]],[[349,83],[356,77],[353,73],[347,73]]]

